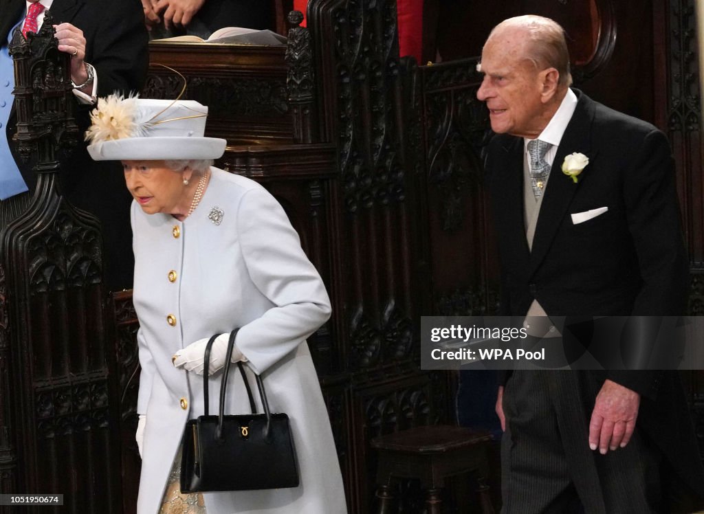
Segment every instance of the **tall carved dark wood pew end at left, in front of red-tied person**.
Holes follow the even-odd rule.
[[[53,512],[111,513],[119,445],[102,239],[58,189],[57,153],[77,127],[52,25],[47,12],[39,34],[16,31],[10,44],[18,146],[38,177],[27,211],[0,232],[0,489],[65,494]]]

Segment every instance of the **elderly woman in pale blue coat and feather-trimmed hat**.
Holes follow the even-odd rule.
[[[210,166],[224,139],[203,137],[207,108],[194,101],[101,99],[87,132],[96,160],[119,160],[132,203],[134,307],[139,318],[137,512],[346,512],[337,452],[306,338],[330,315],[320,275],[279,203],[253,182]],[[289,415],[300,484],[290,489],[181,494],[184,425],[203,414],[203,351],[263,377],[272,412]],[[218,386],[210,378],[210,413]],[[225,413],[249,413],[230,373]],[[143,437],[143,441],[142,441]],[[187,507],[185,507],[187,506]],[[173,509],[173,510],[170,510]]]

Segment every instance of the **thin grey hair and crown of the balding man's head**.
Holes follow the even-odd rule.
[[[570,51],[567,50],[565,30],[559,23],[544,18],[543,16],[524,15],[508,18],[494,27],[491,35],[503,28],[515,27],[524,30],[527,34],[527,58],[539,70],[545,68],[555,68],[560,74],[558,83],[561,86],[572,85],[572,74],[570,73]]]

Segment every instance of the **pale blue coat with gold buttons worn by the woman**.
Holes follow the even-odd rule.
[[[235,327],[241,327],[237,347],[262,374],[272,412],[289,415],[301,484],[205,494],[208,514],[345,513],[337,452],[306,343],[329,318],[325,286],[263,187],[217,168],[211,173],[201,203],[183,222],[132,203],[142,364],[137,410],[146,414],[137,513],[158,513],[184,425],[203,413],[202,377],[175,369],[171,357]],[[223,213],[219,225],[208,219],[215,208]],[[210,380],[210,413],[218,412],[220,377]],[[231,373],[227,393],[226,413],[249,413],[239,373]]]

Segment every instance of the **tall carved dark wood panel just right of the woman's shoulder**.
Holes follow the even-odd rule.
[[[404,96],[393,1],[319,1],[309,26],[321,77],[321,137],[337,143],[337,215],[346,250],[339,322],[349,367],[410,356],[411,247]],[[315,27],[315,30],[313,30]],[[327,69],[326,69],[327,68]]]

